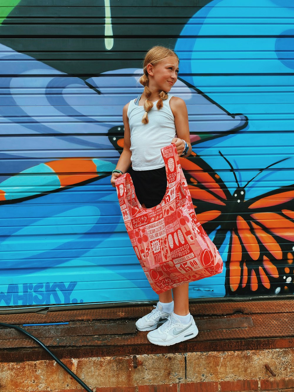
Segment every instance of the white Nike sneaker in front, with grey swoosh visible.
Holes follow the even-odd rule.
[[[147,334],[147,339],[159,346],[171,346],[195,338],[197,335],[198,328],[192,316],[188,324],[182,324],[172,312],[166,323]]]

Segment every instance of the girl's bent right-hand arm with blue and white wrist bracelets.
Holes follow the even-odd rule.
[[[192,152],[190,143],[190,132],[188,122],[188,111],[185,101],[179,97],[172,97],[169,101],[171,111],[174,115],[174,125],[176,126],[176,138],[172,139],[172,143],[175,143],[178,155],[181,156],[185,148],[185,142],[187,142],[189,149],[185,158]],[[185,140],[185,142],[183,142]]]

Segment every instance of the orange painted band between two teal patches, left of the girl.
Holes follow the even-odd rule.
[[[77,184],[79,182],[98,177],[97,167],[89,159],[64,159],[45,163],[53,169],[59,178],[60,187]]]

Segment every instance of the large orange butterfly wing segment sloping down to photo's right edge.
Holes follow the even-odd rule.
[[[267,227],[272,233],[294,242],[294,223],[276,212],[256,212],[252,218]]]

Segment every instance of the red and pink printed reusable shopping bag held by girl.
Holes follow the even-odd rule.
[[[158,294],[223,270],[216,246],[196,218],[176,146],[168,145],[161,152],[167,189],[160,204],[143,208],[129,173],[115,181],[132,246],[152,289]]]

